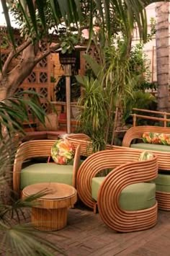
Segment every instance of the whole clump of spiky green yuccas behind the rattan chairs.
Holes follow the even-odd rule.
[[[128,40],[117,40],[116,45],[107,47],[103,54],[104,66],[91,56],[84,56],[92,75],[76,76],[84,87],[78,102],[82,110],[81,131],[91,136],[95,150],[113,144],[115,129],[122,125],[127,99],[133,98],[139,76],[130,72],[128,49]]]

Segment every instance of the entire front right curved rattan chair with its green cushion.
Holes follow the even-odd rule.
[[[116,231],[148,229],[157,221],[156,185],[148,182],[158,175],[157,156],[139,162],[139,155],[136,150],[99,151],[91,154],[77,173],[79,198],[89,208],[97,205],[104,223]],[[111,171],[106,177],[97,177],[104,169]],[[146,206],[149,200],[151,204]]]

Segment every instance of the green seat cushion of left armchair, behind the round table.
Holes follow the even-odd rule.
[[[20,175],[20,189],[40,182],[60,182],[72,185],[73,165],[54,163],[32,164],[25,167]]]

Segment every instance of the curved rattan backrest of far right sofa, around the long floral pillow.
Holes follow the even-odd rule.
[[[130,147],[130,144],[133,141],[133,139],[142,138],[143,133],[146,132],[170,134],[170,128],[151,125],[133,126],[125,133],[125,136],[122,140],[122,146]]]

